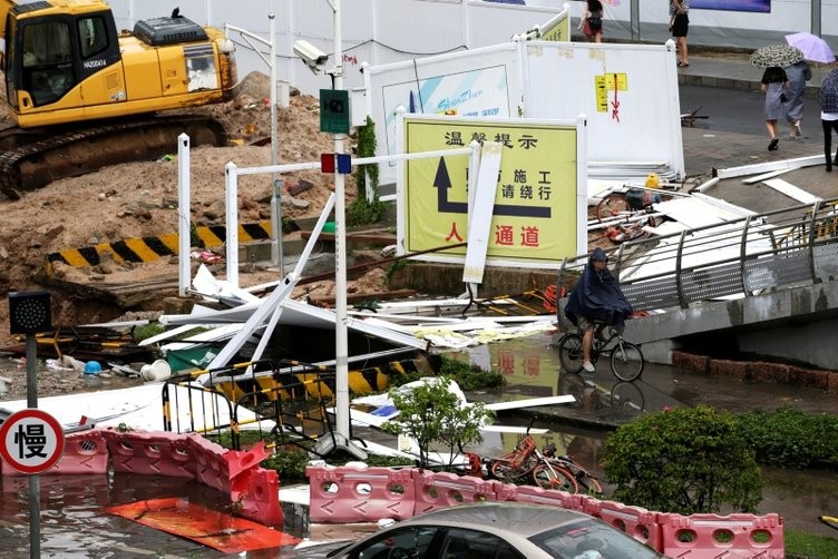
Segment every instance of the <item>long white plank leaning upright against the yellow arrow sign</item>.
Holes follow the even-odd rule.
[[[475,203],[474,208],[469,208],[471,214],[468,216],[468,245],[462,267],[464,283],[483,283],[503,148],[503,145],[497,141],[487,141],[481,149],[480,171],[477,176],[477,188],[474,196]]]

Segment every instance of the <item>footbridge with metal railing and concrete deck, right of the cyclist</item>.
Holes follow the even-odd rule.
[[[729,347],[838,370],[838,198],[624,243],[608,266],[635,311],[625,337],[650,361]],[[569,285],[587,255],[567,258]]]

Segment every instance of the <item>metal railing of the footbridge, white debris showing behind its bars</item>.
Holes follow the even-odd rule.
[[[838,198],[650,236],[606,254],[635,310],[689,308],[838,278]],[[588,257],[565,258],[558,285],[569,291]]]

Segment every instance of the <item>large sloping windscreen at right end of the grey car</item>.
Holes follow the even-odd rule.
[[[529,540],[559,559],[653,559],[663,557],[596,519],[564,524]]]

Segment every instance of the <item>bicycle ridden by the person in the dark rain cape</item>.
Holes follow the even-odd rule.
[[[607,330],[607,335],[603,335]],[[623,335],[614,326],[597,323],[594,343],[591,347],[591,362],[596,363],[601,355],[611,356],[611,372],[621,381],[632,382],[643,374],[645,360],[637,345],[623,340]],[[578,373],[582,371],[582,336],[575,332],[567,332],[558,342],[558,361],[565,371]]]

